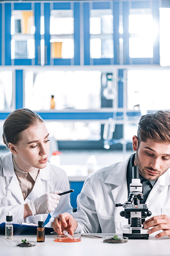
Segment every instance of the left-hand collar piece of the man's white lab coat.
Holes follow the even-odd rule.
[[[120,162],[113,169],[113,171],[106,178],[105,183],[114,184],[114,185],[119,186],[120,184],[123,183],[124,180],[126,180],[126,172],[127,172],[128,163],[133,154],[134,153],[132,153],[128,158],[126,158],[125,160]],[[111,166],[108,166],[108,167],[111,167]]]

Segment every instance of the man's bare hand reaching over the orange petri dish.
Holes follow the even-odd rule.
[[[66,230],[70,235],[73,235],[77,226],[77,221],[69,213],[59,214],[52,223],[52,227],[58,235],[63,235],[63,230]]]

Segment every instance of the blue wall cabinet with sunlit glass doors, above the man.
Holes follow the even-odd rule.
[[[84,64],[159,64],[159,1],[84,3]]]

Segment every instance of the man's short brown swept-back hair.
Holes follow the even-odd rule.
[[[138,123],[138,147],[140,142],[152,139],[155,142],[170,143],[170,112],[158,110],[142,116]]]

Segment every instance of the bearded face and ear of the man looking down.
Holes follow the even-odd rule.
[[[170,167],[170,144],[158,143],[152,139],[140,142],[137,148],[137,137],[133,137],[133,150],[136,151],[134,164],[139,167],[141,176],[156,180]]]

